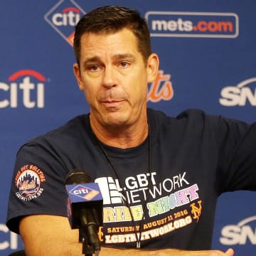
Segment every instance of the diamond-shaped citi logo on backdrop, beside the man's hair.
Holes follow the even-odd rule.
[[[60,0],[44,16],[53,29],[73,46],[75,25],[85,11],[73,0]]]

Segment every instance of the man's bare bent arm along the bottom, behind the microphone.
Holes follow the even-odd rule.
[[[78,256],[82,244],[78,242],[78,230],[72,230],[68,218],[56,215],[29,215],[19,225],[27,256]],[[175,249],[137,250],[102,247],[100,256],[233,256],[233,250],[184,251]]]

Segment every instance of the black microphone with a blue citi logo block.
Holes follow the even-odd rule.
[[[72,229],[79,228],[82,252],[85,255],[100,251],[97,230],[103,225],[103,199],[97,183],[85,171],[70,171],[65,181],[68,192],[68,220]]]

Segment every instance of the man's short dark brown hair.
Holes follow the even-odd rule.
[[[82,16],[75,26],[73,48],[75,58],[80,61],[80,41],[84,33],[116,33],[122,28],[129,28],[137,38],[138,50],[146,63],[151,54],[149,28],[139,11],[123,6],[102,6]]]

